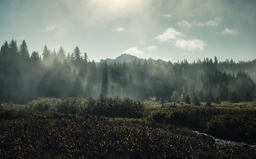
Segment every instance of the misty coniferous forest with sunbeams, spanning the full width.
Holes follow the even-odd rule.
[[[0,50],[1,100],[24,104],[38,97],[129,97],[141,101],[248,101],[254,98],[256,61],[205,58],[189,63],[134,59],[123,63],[90,61],[79,47],[42,47],[29,53],[26,41],[7,41]]]

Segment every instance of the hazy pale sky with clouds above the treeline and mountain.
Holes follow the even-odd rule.
[[[256,59],[256,0],[0,0],[0,42],[177,62]]]

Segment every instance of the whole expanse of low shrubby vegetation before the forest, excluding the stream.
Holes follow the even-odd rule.
[[[3,103],[0,158],[253,159],[256,151],[249,146],[218,145],[192,131],[255,142],[255,102],[228,104],[148,108],[140,101],[105,96]]]

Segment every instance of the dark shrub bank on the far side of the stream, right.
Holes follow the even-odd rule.
[[[186,126],[232,141],[256,143],[256,109],[182,107],[153,111],[159,123]]]

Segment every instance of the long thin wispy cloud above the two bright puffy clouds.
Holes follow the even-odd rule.
[[[222,21],[222,17],[216,17],[214,20],[209,20],[208,22],[187,22],[186,20],[182,20],[181,22],[177,22],[178,26],[185,26],[187,28],[191,26],[218,26]]]

